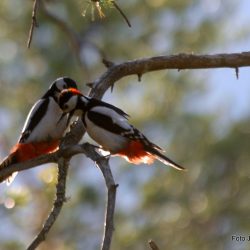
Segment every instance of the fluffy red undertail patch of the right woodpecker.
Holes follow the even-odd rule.
[[[152,164],[155,158],[144,150],[144,146],[140,141],[131,141],[125,149],[118,152],[116,155],[125,158],[126,161],[133,164]]]

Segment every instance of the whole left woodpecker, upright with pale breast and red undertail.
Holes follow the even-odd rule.
[[[58,105],[59,94],[63,89],[77,85],[68,77],[56,79],[48,91],[31,108],[17,144],[0,164],[0,169],[9,165],[30,160],[39,155],[53,152],[68,125],[68,116],[60,119],[63,114]],[[60,119],[60,122],[58,120]],[[10,183],[14,175],[7,177]],[[0,179],[0,182],[5,179]]]

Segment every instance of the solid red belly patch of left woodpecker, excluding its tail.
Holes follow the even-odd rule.
[[[18,143],[11,154],[15,155],[17,162],[27,161],[43,154],[51,153],[57,149],[59,140],[51,142]]]

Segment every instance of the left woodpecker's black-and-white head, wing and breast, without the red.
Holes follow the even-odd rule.
[[[68,77],[56,79],[48,91],[31,108],[19,138],[19,143],[60,139],[67,127],[67,117],[57,123],[62,110],[58,105],[59,94],[63,89],[77,88],[74,80]]]

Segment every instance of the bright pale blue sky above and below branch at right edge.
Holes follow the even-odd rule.
[[[230,34],[237,32],[238,29],[244,29],[246,24],[250,23],[250,1],[240,1],[240,6],[236,18],[229,20],[224,33]],[[232,27],[234,27],[232,29]],[[247,27],[246,27],[247,28]],[[250,31],[250,29],[248,29]],[[214,48],[215,53],[239,53],[249,51],[250,36],[243,38],[240,42],[232,43],[229,40],[227,46]],[[208,91],[206,99],[203,97],[199,102],[205,102],[204,111],[214,112],[220,108],[228,110],[228,119],[232,121],[239,120],[244,116],[250,115],[250,70],[249,67],[239,69],[239,79],[236,78],[233,69],[212,69],[210,71],[210,81],[208,82]],[[204,103],[203,103],[204,104]]]

